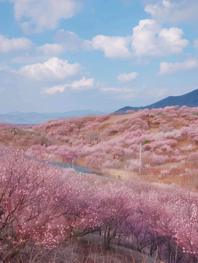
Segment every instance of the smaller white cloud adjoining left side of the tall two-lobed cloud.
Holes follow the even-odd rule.
[[[131,53],[128,46],[131,42],[131,36],[127,37],[108,37],[97,35],[93,37],[92,42],[87,41],[84,46],[93,46],[94,50],[103,50],[105,57],[108,58],[130,58]]]

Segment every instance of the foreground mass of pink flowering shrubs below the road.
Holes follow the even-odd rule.
[[[3,262],[14,262],[16,254],[22,257],[24,248],[26,254],[32,253],[31,243],[52,249],[74,234],[93,232],[103,235],[105,247],[117,238],[132,249],[151,247],[150,255],[157,253],[167,263],[175,257],[197,262],[197,193],[176,185],[137,181],[102,184],[94,175],[49,168],[41,151],[28,151],[37,156],[35,161],[19,149],[0,147]],[[139,164],[131,160],[130,165],[134,169]],[[170,170],[161,170],[161,174]],[[8,246],[12,253],[6,253]]]

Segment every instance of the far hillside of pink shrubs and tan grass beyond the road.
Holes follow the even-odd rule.
[[[41,144],[39,151],[48,154],[49,159],[68,164],[74,160],[75,165],[104,175],[115,174],[110,177],[117,178],[119,174],[122,179],[129,179],[138,175],[140,168],[141,175],[153,174],[146,180],[177,181],[183,185],[184,180],[177,176],[198,169],[194,157],[190,157],[197,151],[197,125],[198,107],[172,106],[127,115],[51,120],[29,128],[24,126],[23,130],[4,125],[0,141],[23,149],[37,149],[36,145]]]

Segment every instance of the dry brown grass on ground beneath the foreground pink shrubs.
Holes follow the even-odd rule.
[[[10,250],[9,250],[10,249]],[[1,247],[1,262],[5,263],[131,263],[132,254],[101,244],[72,239],[57,248],[46,249],[34,244],[15,250]],[[137,261],[136,261],[137,262]],[[134,262],[135,263],[135,262]]]

